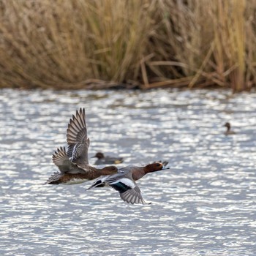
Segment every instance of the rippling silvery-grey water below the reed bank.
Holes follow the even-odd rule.
[[[0,94],[0,255],[256,254],[255,93]],[[170,162],[138,181],[151,205],[130,206],[110,188],[86,192],[91,182],[42,185],[80,107],[89,157]],[[226,121],[237,135],[223,135]]]

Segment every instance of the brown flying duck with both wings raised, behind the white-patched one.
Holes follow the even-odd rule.
[[[67,127],[67,151],[65,147],[58,148],[53,154],[53,163],[60,172],[53,173],[45,184],[79,184],[85,181],[118,172],[115,166],[97,169],[89,165],[88,148],[90,140],[87,137],[86,113],[80,108],[69,120]]]

